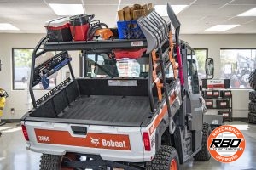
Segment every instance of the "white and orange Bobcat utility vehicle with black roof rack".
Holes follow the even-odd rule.
[[[41,169],[179,169],[192,157],[210,159],[211,128],[203,123],[206,106],[199,94],[195,53],[187,42],[179,41],[179,21],[169,4],[167,9],[176,30],[174,43],[171,23],[155,11],[137,20],[146,39],[47,42],[43,38],[38,43],[30,82],[34,108],[21,124],[27,150],[43,153]],[[43,52],[38,53],[41,46]],[[147,51],[136,60],[139,76],[118,77],[113,50],[141,48]],[[72,78],[36,101],[32,87],[41,81],[40,72],[49,77],[65,66],[69,50],[82,51],[83,77],[73,76],[69,59],[65,65]],[[35,59],[47,51],[61,52],[35,67]],[[55,59],[59,63],[51,65],[57,68],[51,72],[49,65]],[[208,63],[211,75],[213,62]]]

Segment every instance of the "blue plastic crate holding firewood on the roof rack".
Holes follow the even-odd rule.
[[[119,39],[139,39],[145,37],[136,20],[118,21],[117,26]]]

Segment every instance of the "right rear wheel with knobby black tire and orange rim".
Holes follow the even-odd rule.
[[[161,145],[160,150],[155,154],[154,159],[146,163],[147,170],[169,170],[174,168],[176,164],[177,170],[179,169],[179,160],[177,150],[169,145]]]

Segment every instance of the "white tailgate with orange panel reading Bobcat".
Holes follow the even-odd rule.
[[[26,126],[28,150],[65,155],[99,155],[108,161],[146,161],[141,127],[111,127],[55,122],[21,122]],[[151,150],[154,154],[154,150]],[[151,154],[149,154],[151,155]],[[147,157],[149,156],[147,153]],[[148,160],[149,161],[149,160]]]

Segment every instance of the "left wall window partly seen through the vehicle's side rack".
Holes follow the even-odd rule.
[[[13,48],[13,89],[27,89],[30,78],[33,48]],[[36,59],[36,66],[42,64],[46,59],[53,57],[53,53],[44,54],[44,57]],[[55,87],[55,77],[49,79],[49,88]],[[43,89],[39,83],[35,89]]]

